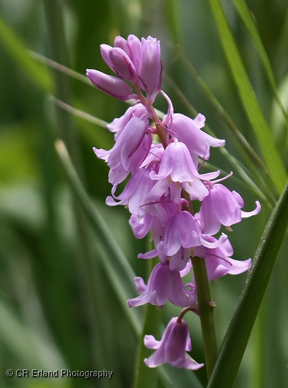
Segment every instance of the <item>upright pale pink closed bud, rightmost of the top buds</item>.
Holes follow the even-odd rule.
[[[139,78],[142,88],[147,92],[148,101],[153,101],[161,89],[162,62],[160,41],[151,36],[141,39]]]

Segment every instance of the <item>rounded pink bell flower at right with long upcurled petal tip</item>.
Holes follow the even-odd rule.
[[[243,206],[244,201],[238,192],[230,191],[220,183],[212,184],[199,212],[202,232],[213,235],[219,232],[221,225],[230,227],[240,222],[242,218],[258,214],[261,210],[258,201],[253,211],[243,211],[241,210]]]

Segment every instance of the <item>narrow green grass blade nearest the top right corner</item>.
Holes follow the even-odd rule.
[[[284,105],[281,101],[281,98],[280,98],[280,95],[278,92],[278,88],[277,88],[277,84],[276,84],[276,81],[274,78],[272,66],[271,66],[269,58],[266,54],[264,45],[260,39],[259,33],[258,33],[257,28],[255,26],[255,22],[254,22],[253,17],[250,13],[250,10],[247,7],[245,0],[233,0],[233,2],[234,2],[235,7],[237,8],[237,11],[238,11],[245,27],[247,28],[249,34],[251,35],[251,38],[252,38],[254,45],[256,47],[256,50],[258,52],[259,58],[264,66],[265,71],[266,71],[266,75],[267,75],[268,81],[270,83],[271,89],[274,93],[275,100],[277,101],[277,103],[281,109],[281,112],[283,114],[286,129],[288,130],[288,115],[287,115],[287,112],[285,111]]]

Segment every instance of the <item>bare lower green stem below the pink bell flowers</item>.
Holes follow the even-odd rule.
[[[207,276],[205,260],[200,257],[192,257],[193,271],[196,281],[199,316],[201,321],[206,372],[210,378],[217,356],[217,338],[214,323],[215,303],[211,300],[209,280]]]

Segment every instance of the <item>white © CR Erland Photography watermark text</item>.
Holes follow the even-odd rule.
[[[109,380],[112,378],[113,371],[108,371],[106,369],[102,369],[101,371],[81,371],[77,369],[76,371],[71,371],[69,369],[56,369],[55,371],[46,371],[44,369],[7,369],[6,376],[8,377],[32,377],[32,378],[85,378],[85,379],[102,379],[108,378]]]

